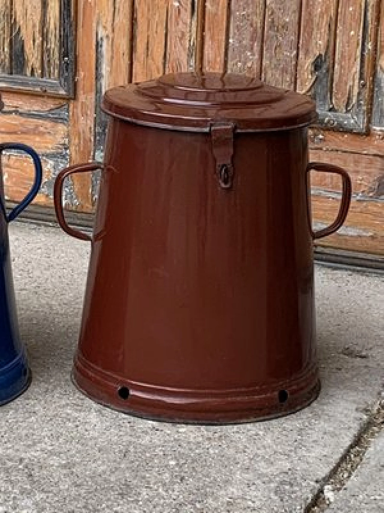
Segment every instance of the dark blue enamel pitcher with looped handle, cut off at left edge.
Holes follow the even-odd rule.
[[[0,144],[0,156],[4,149],[22,150],[32,156],[35,183],[22,203],[7,214],[3,174],[0,173],[0,405],[19,396],[30,384],[31,372],[17,322],[8,223],[33,200],[42,179],[41,162],[32,148],[22,144]]]

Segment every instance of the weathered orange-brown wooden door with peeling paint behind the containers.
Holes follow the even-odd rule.
[[[319,123],[310,132],[311,159],[343,165],[353,181],[346,226],[322,244],[384,255],[384,0],[77,0],[76,6],[69,0],[3,0],[0,5],[0,86],[22,91],[4,94],[0,137],[29,142],[42,154],[45,181],[37,203],[51,207],[61,166],[102,159],[106,124],[99,106],[106,88],[169,71],[237,71],[315,99]],[[76,62],[76,87],[71,65],[60,71],[64,55]],[[20,75],[34,75],[34,95]],[[56,84],[49,82],[49,90],[43,85],[48,78]],[[8,196],[14,200],[24,192],[30,171],[27,164],[16,166],[12,155],[6,158]],[[312,186],[313,222],[321,227],[337,211],[339,184],[314,173]],[[76,177],[66,188],[68,208],[80,212],[92,211],[96,196],[95,177]]]

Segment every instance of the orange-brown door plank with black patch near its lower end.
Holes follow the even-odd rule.
[[[317,105],[331,102],[337,0],[303,0],[296,90],[312,92]]]

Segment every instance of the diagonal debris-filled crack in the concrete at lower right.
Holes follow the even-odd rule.
[[[304,513],[323,513],[334,501],[335,492],[347,484],[374,438],[384,428],[384,392],[370,410],[368,418],[362,424],[353,441],[344,451],[335,466],[322,480],[317,492],[304,509]]]

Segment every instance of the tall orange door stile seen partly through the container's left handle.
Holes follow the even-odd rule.
[[[95,113],[95,0],[78,0],[77,27],[77,99],[70,106],[70,162],[79,164],[93,159]],[[89,173],[73,175],[78,209],[90,211],[92,179]]]

